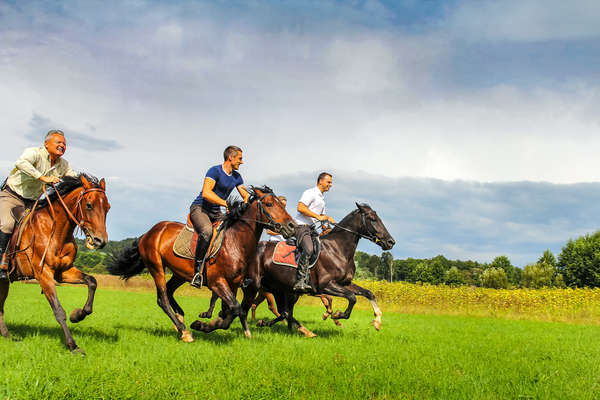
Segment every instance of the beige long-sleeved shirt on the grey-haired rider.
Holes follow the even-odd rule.
[[[42,175],[62,178],[78,174],[62,157],[51,166],[50,154],[44,146],[28,147],[15,162],[15,168],[10,171],[6,183],[19,196],[37,200],[44,193],[44,182],[39,180]]]

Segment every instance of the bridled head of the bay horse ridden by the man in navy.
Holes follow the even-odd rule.
[[[275,193],[267,186],[252,187],[252,192],[258,207],[257,220],[286,239],[292,237],[296,232],[296,223]]]

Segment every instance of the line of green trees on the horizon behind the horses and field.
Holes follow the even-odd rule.
[[[76,239],[78,252],[74,265],[88,273],[107,273],[106,257],[128,247],[135,238],[109,241],[102,250],[90,251]],[[356,278],[390,282],[468,285],[488,288],[600,287],[600,231],[571,239],[558,257],[544,251],[537,261],[523,268],[500,255],[490,263],[433,258],[394,259],[390,252],[380,256],[357,251]]]

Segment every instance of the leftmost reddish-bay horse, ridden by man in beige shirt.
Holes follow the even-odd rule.
[[[84,284],[88,297],[83,308],[73,310],[69,319],[76,323],[92,313],[96,279],[73,266],[77,245],[73,237],[80,228],[86,237],[86,247],[100,249],[108,241],[106,214],[110,209],[104,179],[80,174],[66,176],[50,189],[29,216],[15,226],[11,246],[6,255],[9,260],[10,281],[35,278],[42,293],[52,307],[56,321],[65,335],[69,350],[82,353],[67,326],[67,316],[56,294],[57,282]],[[16,241],[21,230],[21,239]],[[16,246],[16,247],[14,247]],[[4,302],[8,296],[9,282],[0,283],[0,333],[9,337],[4,323]]]

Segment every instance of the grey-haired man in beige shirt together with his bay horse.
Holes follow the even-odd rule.
[[[54,281],[88,286],[87,301],[83,309],[71,313],[71,322],[79,322],[92,313],[96,280],[73,267],[77,254],[73,232],[80,228],[85,233],[87,247],[103,247],[108,241],[106,213],[110,204],[104,179],[98,181],[92,176],[77,174],[61,158],[65,150],[64,134],[48,132],[44,147],[25,150],[0,192],[0,254],[3,253],[0,333],[9,336],[4,323],[9,279],[35,278],[63,329],[67,347],[83,353],[69,331]],[[63,181],[58,183],[60,178]],[[44,184],[52,185],[53,189],[46,193],[45,199],[38,200],[45,192]],[[25,206],[31,211],[22,216]],[[20,216],[19,223],[15,217]]]

